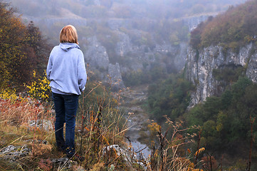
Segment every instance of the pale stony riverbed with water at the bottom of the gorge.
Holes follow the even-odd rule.
[[[131,143],[135,152],[141,151],[147,158],[150,155],[150,150],[143,142],[138,139],[141,135],[147,136],[147,132],[143,127],[147,127],[148,115],[142,109],[142,105],[147,100],[147,86],[140,86],[135,88],[126,88],[120,93],[120,108],[125,112],[127,118],[127,132],[125,134],[127,143]],[[142,129],[143,128],[143,129]],[[144,140],[147,142],[148,140]],[[137,153],[138,155],[138,153]]]

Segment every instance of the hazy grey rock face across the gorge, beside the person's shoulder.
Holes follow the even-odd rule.
[[[110,53],[103,44],[98,41],[97,36],[90,38],[83,37],[81,47],[85,53],[85,62],[89,64],[90,69],[97,73],[100,81],[109,81],[116,84],[119,88],[124,88],[122,81],[123,73],[132,71],[150,71],[153,63],[165,68],[167,72],[177,72],[184,68],[187,56],[187,42],[181,42],[179,45],[173,46],[171,43],[157,43],[150,48],[144,43],[138,45],[132,41],[127,33],[114,30],[118,41],[115,44],[114,52],[120,62],[113,62]],[[134,35],[142,37],[143,33],[139,30],[132,30]],[[112,62],[111,62],[112,61]],[[108,78],[109,76],[109,78]]]

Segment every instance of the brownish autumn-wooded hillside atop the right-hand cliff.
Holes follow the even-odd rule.
[[[244,5],[230,7],[226,13],[214,19],[210,17],[192,31],[190,44],[194,48],[203,48],[222,43],[236,50],[256,41],[256,7],[256,1],[248,1]]]

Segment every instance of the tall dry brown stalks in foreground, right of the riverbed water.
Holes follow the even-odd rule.
[[[152,152],[149,162],[147,162],[147,170],[150,171],[193,171],[194,163],[192,162],[193,156],[182,155],[183,149],[193,142],[195,135],[187,134],[187,130],[194,128],[182,128],[182,122],[172,122],[167,118],[167,130],[162,133],[162,127],[157,123],[151,123],[151,130],[155,130],[159,147],[155,149],[155,145],[152,147]],[[169,133],[170,132],[170,133]]]

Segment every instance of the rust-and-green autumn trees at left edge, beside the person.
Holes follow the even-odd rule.
[[[0,86],[19,88],[31,81],[33,70],[43,73],[49,51],[33,23],[26,27],[14,9],[0,1]]]

